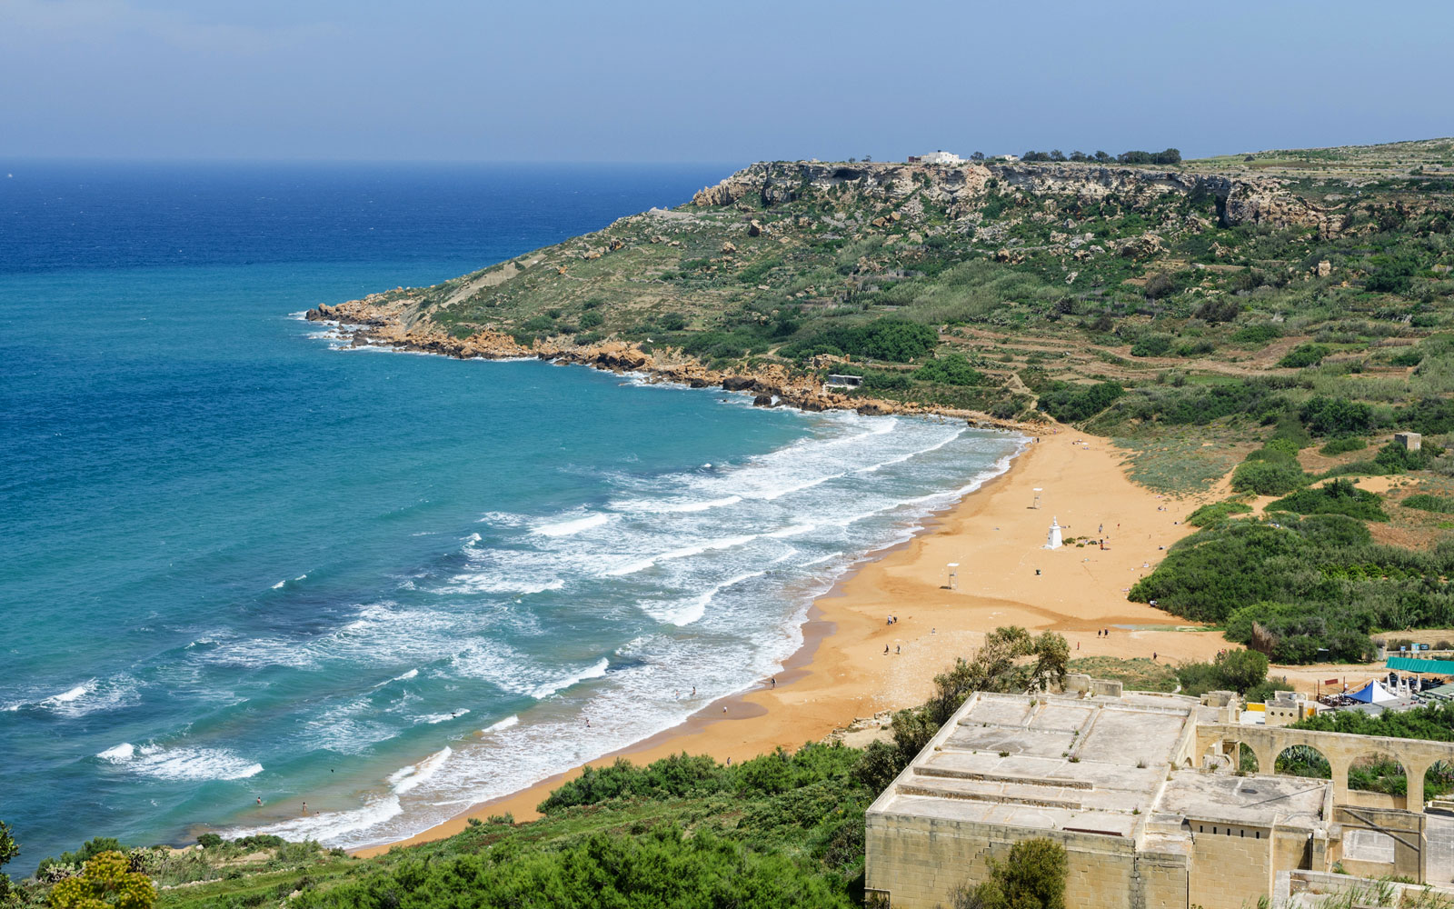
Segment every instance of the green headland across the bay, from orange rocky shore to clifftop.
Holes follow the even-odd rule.
[[[861,404],[820,391],[835,371],[890,407],[1073,420],[1109,397],[1061,399],[1111,381],[1131,391],[1111,422],[1140,425],[1168,381],[1442,394],[1416,345],[1448,317],[1451,218],[1450,140],[1176,167],[775,161],[313,317],[366,323],[356,343],[750,375],[803,406]]]

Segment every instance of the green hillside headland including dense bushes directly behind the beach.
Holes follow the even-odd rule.
[[[1236,468],[1134,599],[1284,662],[1454,625],[1454,140],[759,163],[310,317],[352,323],[355,345],[641,369],[765,406],[1075,423],[1162,493]],[[827,390],[830,372],[862,387]]]

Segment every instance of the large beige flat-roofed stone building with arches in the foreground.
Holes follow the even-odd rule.
[[[1034,836],[1066,846],[1073,908],[1239,909],[1269,896],[1280,871],[1336,861],[1425,880],[1425,816],[1349,793],[1346,774],[1352,755],[1397,755],[1422,809],[1428,762],[1454,746],[1245,727],[1240,707],[1229,692],[1122,694],[1088,676],[1064,694],[971,695],[869,807],[869,897],[948,905],[989,857]],[[1284,748],[1309,743],[1332,780],[1237,772],[1245,753],[1271,771]]]

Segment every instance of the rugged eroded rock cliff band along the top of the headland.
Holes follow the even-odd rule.
[[[1284,180],[1246,175],[1189,173],[1101,164],[824,164],[819,161],[759,161],[692,196],[698,207],[733,205],[752,198],[763,207],[782,205],[808,192],[836,198],[865,198],[903,204],[916,193],[944,205],[951,218],[973,218],[992,192],[1021,196],[1075,198],[1082,202],[1111,196],[1131,208],[1165,193],[1204,193],[1217,201],[1223,227],[1266,224],[1313,227],[1336,233],[1338,220],[1298,198]]]

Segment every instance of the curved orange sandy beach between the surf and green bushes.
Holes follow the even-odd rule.
[[[1072,657],[1211,659],[1227,646],[1220,634],[1127,602],[1125,590],[1156,566],[1166,547],[1194,529],[1184,524],[1192,509],[1226,493],[1218,484],[1195,499],[1159,496],[1131,483],[1122,460],[1109,441],[1073,429],[1040,436],[1009,471],[912,541],[874,554],[822,596],[804,628],[803,649],[778,673],[775,686],[765,679],[747,694],[717,701],[686,723],[592,764],[618,756],[650,762],[683,750],[742,761],[778,746],[797,748],[855,718],[922,702],[936,673],[1000,625],[1059,631]],[[1066,540],[1053,551],[1043,548],[1051,519]],[[1105,550],[1072,542],[1102,535]],[[954,589],[949,563],[958,563]],[[890,615],[899,621],[888,624]],[[1109,628],[1109,636],[1098,637],[1101,628]],[[579,772],[359,854],[449,836],[471,816],[535,817],[535,806],[550,790]]]

